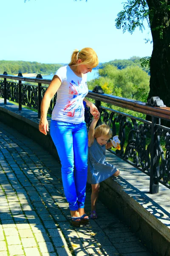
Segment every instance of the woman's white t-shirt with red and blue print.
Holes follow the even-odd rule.
[[[62,84],[57,90],[57,102],[52,120],[79,124],[85,120],[83,99],[88,94],[87,74],[81,78],[69,66],[60,67],[55,73]]]

